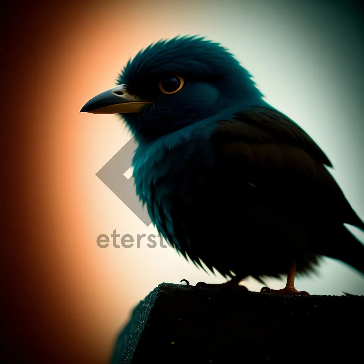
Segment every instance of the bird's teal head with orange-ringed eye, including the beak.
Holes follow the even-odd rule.
[[[119,114],[139,141],[157,139],[235,104],[259,104],[262,97],[232,54],[195,36],[151,44],[129,60],[116,81],[81,112]]]

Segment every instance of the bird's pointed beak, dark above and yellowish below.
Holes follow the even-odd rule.
[[[124,114],[126,112],[139,112],[147,104],[153,104],[153,102],[144,101],[137,96],[128,94],[127,85],[118,85],[87,101],[80,112]]]

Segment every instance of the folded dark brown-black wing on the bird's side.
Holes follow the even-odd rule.
[[[300,206],[302,214],[364,229],[326,169],[332,166],[327,156],[286,116],[262,107],[239,112],[218,123],[212,141],[219,163],[248,169],[246,182],[266,193],[267,203],[279,202],[276,206],[284,211]]]

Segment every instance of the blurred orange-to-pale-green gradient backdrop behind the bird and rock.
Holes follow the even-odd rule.
[[[159,283],[224,281],[170,247],[96,245],[99,234],[110,236],[114,229],[134,238],[157,233],[95,175],[131,135],[115,115],[79,110],[114,86],[131,56],[161,38],[201,34],[229,48],[266,100],[328,154],[334,177],[364,218],[364,22],[356,3],[13,1],[2,6],[1,291],[9,362],[106,363],[130,310]],[[229,244],[222,242],[222,249]],[[253,279],[245,285],[262,286]],[[364,279],[329,259],[318,276],[297,278],[296,286],[311,294],[364,294]]]

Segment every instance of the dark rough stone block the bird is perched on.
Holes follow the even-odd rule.
[[[111,363],[356,363],[363,330],[364,296],[162,283],[134,309]]]

